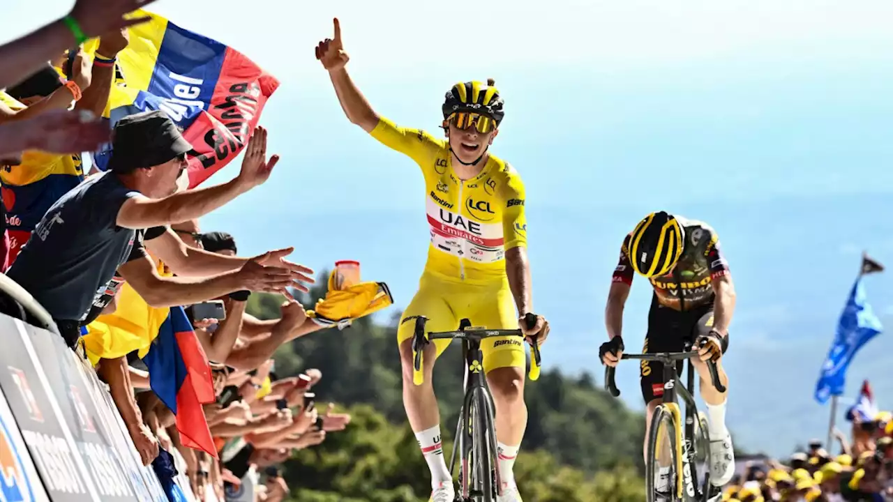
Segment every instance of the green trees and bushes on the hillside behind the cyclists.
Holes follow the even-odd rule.
[[[328,277],[322,274],[321,278]],[[324,288],[326,280],[318,280]],[[304,298],[313,305],[324,289]],[[279,316],[281,298],[253,295],[248,310]],[[276,354],[280,375],[321,370],[313,388],[321,402],[346,407],[353,420],[316,448],[285,465],[292,499],[302,502],[408,502],[427,500],[428,469],[403,410],[396,321],[361,319],[346,330],[297,339]],[[462,398],[458,343],[435,368],[441,427],[449,461]],[[595,364],[595,362],[594,362]],[[645,497],[641,478],[644,417],[598,389],[592,377],[543,372],[527,381],[530,421],[515,465],[522,496],[538,502],[632,502]]]

